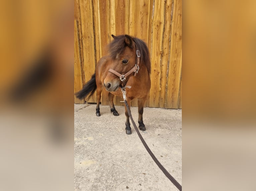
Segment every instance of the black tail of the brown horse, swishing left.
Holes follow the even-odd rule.
[[[83,99],[85,96],[87,96],[88,94],[91,93],[88,97],[88,98],[90,98],[94,94],[96,89],[97,89],[97,85],[96,85],[96,77],[95,77],[95,73],[94,73],[94,75],[92,75],[91,80],[89,80],[85,84],[84,88],[82,90],[80,90],[79,92],[77,92],[75,95],[77,98]]]

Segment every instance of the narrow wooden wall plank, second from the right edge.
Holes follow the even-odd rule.
[[[167,91],[167,68],[170,62],[170,33],[171,33],[171,13],[172,13],[173,0],[166,0],[164,5],[163,15],[163,36],[162,36],[162,55],[160,60],[160,94],[159,94],[159,107],[165,107],[165,95]]]

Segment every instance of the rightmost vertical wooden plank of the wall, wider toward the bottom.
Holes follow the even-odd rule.
[[[166,108],[179,108],[180,76],[181,76],[181,0],[175,0],[173,5],[173,19],[171,26],[171,55],[168,75],[168,92],[166,94]]]

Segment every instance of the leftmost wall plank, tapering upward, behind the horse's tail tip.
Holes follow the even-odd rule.
[[[79,55],[79,32],[78,32],[78,28],[77,28],[77,20],[74,20],[74,29],[75,29],[75,33],[74,33],[74,47],[75,47],[75,59],[74,59],[74,92],[78,92],[79,90],[81,90],[83,88],[83,78],[82,78],[82,74],[81,74],[81,56]],[[76,96],[74,98],[75,103],[85,103],[85,100],[80,100],[78,99]]]

